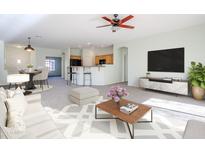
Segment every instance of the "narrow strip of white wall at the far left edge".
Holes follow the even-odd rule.
[[[4,42],[0,40],[0,85],[6,84],[6,76]]]

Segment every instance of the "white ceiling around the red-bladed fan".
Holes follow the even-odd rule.
[[[32,36],[31,44],[39,47],[86,47],[88,42],[103,47],[205,23],[205,15],[136,14],[126,23],[134,25],[135,29],[120,29],[112,33],[110,27],[96,28],[107,24],[101,16],[104,15],[0,15],[0,40],[26,45],[27,37]]]

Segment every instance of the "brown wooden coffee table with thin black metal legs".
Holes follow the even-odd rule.
[[[138,109],[135,110],[134,112],[132,112],[130,115],[125,114],[125,113],[120,111],[120,106],[126,105],[128,103],[137,104],[139,106]],[[114,117],[111,117],[111,118],[101,117],[100,118],[100,117],[97,116],[98,109],[103,110],[103,111],[111,114]],[[148,111],[151,111],[150,121],[141,121],[140,119]],[[106,102],[102,102],[102,103],[97,104],[95,106],[95,119],[119,119],[119,120],[125,122],[127,124],[131,139],[134,139],[134,124],[137,123],[137,122],[152,122],[153,113],[152,113],[151,107],[143,105],[143,104],[135,103],[135,102],[132,102],[132,101],[129,101],[129,100],[126,100],[126,99],[122,99],[120,101],[120,103],[118,103],[118,104],[113,102],[113,100],[108,100]],[[132,125],[132,131],[130,129],[130,125]]]

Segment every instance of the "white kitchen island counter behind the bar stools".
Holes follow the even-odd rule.
[[[109,79],[112,65],[71,66],[72,72],[77,73],[77,85],[83,85],[84,72],[91,72],[92,85],[108,85],[113,82]],[[85,85],[89,85],[89,76],[86,75]]]

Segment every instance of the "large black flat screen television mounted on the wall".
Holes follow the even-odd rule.
[[[148,71],[184,72],[184,48],[148,51]]]

